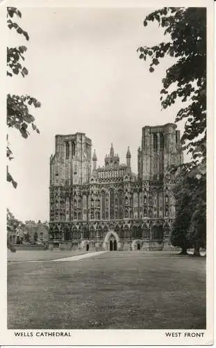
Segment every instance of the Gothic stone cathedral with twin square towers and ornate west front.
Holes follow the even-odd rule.
[[[167,168],[182,163],[180,131],[172,123],[142,128],[138,174],[131,171],[129,147],[126,164],[112,144],[99,167],[85,133],[56,135],[50,157],[49,247],[170,250],[175,200]]]

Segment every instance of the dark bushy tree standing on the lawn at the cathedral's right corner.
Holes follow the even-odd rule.
[[[190,173],[191,174],[191,173]],[[176,219],[172,230],[172,244],[187,249],[194,246],[194,255],[199,256],[199,248],[206,246],[206,174],[175,175]]]

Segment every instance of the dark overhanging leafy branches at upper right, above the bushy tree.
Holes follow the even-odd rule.
[[[176,115],[176,122],[185,120],[181,138],[183,149],[199,163],[206,157],[206,8],[162,8],[144,19],[144,26],[156,20],[164,28],[167,42],[153,47],[139,47],[140,59],[150,59],[153,72],[160,60],[174,57],[166,71],[160,91],[163,109],[176,100],[187,102]]]

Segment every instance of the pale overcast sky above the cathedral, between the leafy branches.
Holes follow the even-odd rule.
[[[40,134],[28,139],[12,129],[15,159],[10,172],[17,189],[8,185],[8,206],[22,221],[49,219],[49,157],[55,134],[85,132],[92,139],[98,164],[113,143],[121,163],[131,148],[132,170],[142,127],[174,122],[180,104],[161,111],[161,79],[172,64],[166,58],[153,73],[136,49],[165,38],[158,25],[143,26],[156,8],[20,8],[26,42],[9,32],[8,45],[26,45],[29,74],[8,78],[8,93],[30,94],[42,103],[33,110]],[[182,127],[178,127],[182,129]]]

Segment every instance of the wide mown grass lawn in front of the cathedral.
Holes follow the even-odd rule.
[[[205,328],[206,258],[122,251],[8,262],[8,329]]]

